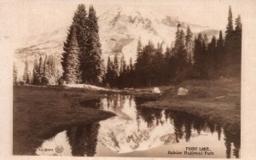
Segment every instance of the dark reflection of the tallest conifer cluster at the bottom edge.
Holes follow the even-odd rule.
[[[99,128],[100,124],[95,122],[67,129],[67,139],[73,156],[92,157],[96,154]]]

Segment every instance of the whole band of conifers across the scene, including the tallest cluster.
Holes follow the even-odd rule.
[[[32,74],[27,61],[22,82],[34,85],[56,83],[90,83],[108,87],[152,87],[180,83],[187,79],[216,79],[219,77],[241,77],[241,17],[233,26],[231,8],[226,31],[208,40],[207,35],[193,35],[189,26],[183,31],[177,25],[175,42],[163,49],[163,43],[151,41],[143,45],[137,42],[137,60],[120,60],[108,57],[106,70],[102,63],[102,49],[96,11],[90,6],[86,12],[79,4],[73,23],[64,43],[61,66],[62,76],[56,68],[55,57],[45,55],[34,61]],[[17,68],[14,66],[14,85],[18,83]]]

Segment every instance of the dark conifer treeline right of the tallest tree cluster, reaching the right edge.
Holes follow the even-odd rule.
[[[120,67],[108,58],[106,81],[114,87],[151,87],[160,84],[179,83],[186,79],[212,79],[241,76],[241,17],[233,28],[231,8],[225,38],[222,31],[208,43],[207,35],[193,34],[189,26],[186,33],[177,26],[175,43],[163,51],[162,43],[137,43],[137,60],[131,67]],[[123,59],[123,58],[122,58]],[[116,57],[114,59],[116,61]],[[124,64],[124,62],[120,62]],[[123,65],[122,65],[123,66]],[[128,72],[127,72],[128,70]],[[124,78],[125,77],[125,78]]]

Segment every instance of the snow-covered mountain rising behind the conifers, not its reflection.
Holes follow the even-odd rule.
[[[134,61],[139,37],[143,43],[151,40],[153,43],[163,42],[170,46],[177,31],[177,24],[181,24],[183,29],[189,25],[194,33],[210,31],[212,35],[218,34],[218,31],[207,26],[187,24],[172,15],[154,13],[148,9],[115,7],[107,10],[98,17],[102,59],[106,64],[109,55],[113,57],[114,54],[124,54],[126,61],[130,57]],[[23,47],[15,51],[15,64],[19,70],[24,68],[25,60],[28,60],[29,68],[32,69],[33,60],[44,54],[55,54],[60,61],[67,30],[68,26],[65,26],[53,32],[27,37]]]

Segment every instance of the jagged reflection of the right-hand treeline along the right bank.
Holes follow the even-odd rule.
[[[159,108],[148,108],[142,107],[141,105],[144,100],[138,99],[135,101],[137,107],[137,126],[139,128],[140,119],[143,119],[146,123],[148,123],[148,128],[159,123],[163,124],[161,121],[162,111]],[[167,119],[170,119],[170,122],[173,123],[174,134],[177,143],[181,139],[185,139],[187,142],[190,140],[192,129],[196,130],[197,134],[201,134],[201,131],[209,130],[212,134],[217,132],[218,140],[221,140],[222,128],[220,125],[215,123],[210,123],[204,120],[201,117],[196,117],[194,115],[188,114],[182,111],[171,111],[164,110],[166,122]],[[155,123],[154,123],[155,122]],[[233,144],[234,149],[232,150],[233,155],[235,157],[239,157],[240,151],[240,129],[237,129],[236,133],[230,134],[224,129],[224,144],[226,146],[226,157],[230,157],[231,154],[231,144]]]

